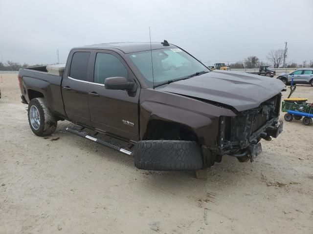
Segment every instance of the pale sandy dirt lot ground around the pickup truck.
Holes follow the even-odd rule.
[[[253,163],[224,156],[207,180],[141,171],[67,121],[35,136],[17,75],[2,77],[0,234],[313,234],[313,126],[285,122]],[[296,96],[313,102],[313,87]]]

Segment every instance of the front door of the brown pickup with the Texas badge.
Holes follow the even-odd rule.
[[[134,74],[119,55],[110,51],[95,54],[93,71],[93,81],[89,82],[88,90],[92,127],[125,139],[138,140],[138,82],[134,93],[109,90],[104,86],[106,78],[134,79]]]

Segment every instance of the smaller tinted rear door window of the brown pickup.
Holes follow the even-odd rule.
[[[69,76],[74,79],[87,80],[87,66],[90,52],[75,52],[70,64]]]

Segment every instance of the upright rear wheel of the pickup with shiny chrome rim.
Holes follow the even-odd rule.
[[[30,100],[27,116],[30,129],[37,136],[51,135],[57,128],[57,120],[47,108],[44,98]]]

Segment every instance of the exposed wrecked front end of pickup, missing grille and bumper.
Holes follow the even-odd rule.
[[[216,154],[235,156],[239,161],[253,161],[262,152],[259,141],[276,138],[283,131],[283,121],[278,119],[280,98],[273,97],[236,117],[221,117]]]

